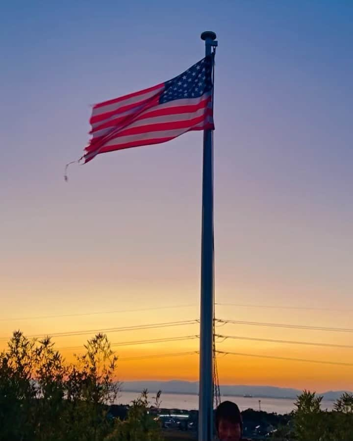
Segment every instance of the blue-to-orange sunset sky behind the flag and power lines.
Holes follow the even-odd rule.
[[[99,155],[91,105],[183,72],[217,33],[215,276],[233,337],[353,345],[351,1],[0,5],[0,349],[26,335],[199,318],[202,134]],[[108,333],[199,334],[198,323]],[[94,335],[56,336],[65,357]],[[353,364],[353,348],[219,339]],[[120,380],[197,380],[198,339],[114,346]],[[130,358],[141,357],[135,360]],[[146,358],[145,358],[146,357]],[[150,357],[150,358],[148,358]],[[353,366],[220,355],[222,384],[353,390]]]

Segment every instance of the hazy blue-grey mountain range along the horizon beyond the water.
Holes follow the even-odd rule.
[[[148,389],[150,392],[162,391],[162,393],[199,393],[199,382],[191,381],[126,381],[122,390],[126,392],[142,392]],[[277,388],[274,386],[220,386],[221,395],[244,396],[251,395],[256,398],[296,398],[302,391],[290,388]],[[325,400],[336,400],[344,391],[328,391],[320,393]],[[346,391],[348,392],[348,391]]]

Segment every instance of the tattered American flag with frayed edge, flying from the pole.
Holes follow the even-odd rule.
[[[213,54],[175,78],[93,106],[84,162],[99,153],[164,143],[190,130],[214,129]]]

